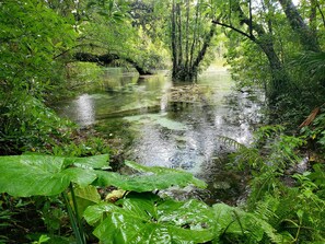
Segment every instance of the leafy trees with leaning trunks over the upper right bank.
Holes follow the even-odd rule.
[[[219,16],[213,23],[229,37],[234,78],[241,88],[265,90],[278,123],[297,125],[324,103],[323,1],[213,2]]]

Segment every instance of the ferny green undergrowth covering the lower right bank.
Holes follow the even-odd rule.
[[[324,114],[299,137],[285,135],[283,127],[267,126],[254,138],[251,146],[221,138],[236,148],[232,167],[253,176],[245,210],[268,222],[288,243],[323,243]]]

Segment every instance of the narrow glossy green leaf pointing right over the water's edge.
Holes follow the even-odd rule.
[[[114,185],[125,190],[137,193],[166,189],[171,186],[187,186],[193,184],[197,187],[206,187],[206,183],[194,177],[193,174],[165,167],[148,167],[134,162],[126,162],[140,174],[120,175],[112,172],[98,172],[98,182],[102,186]]]

